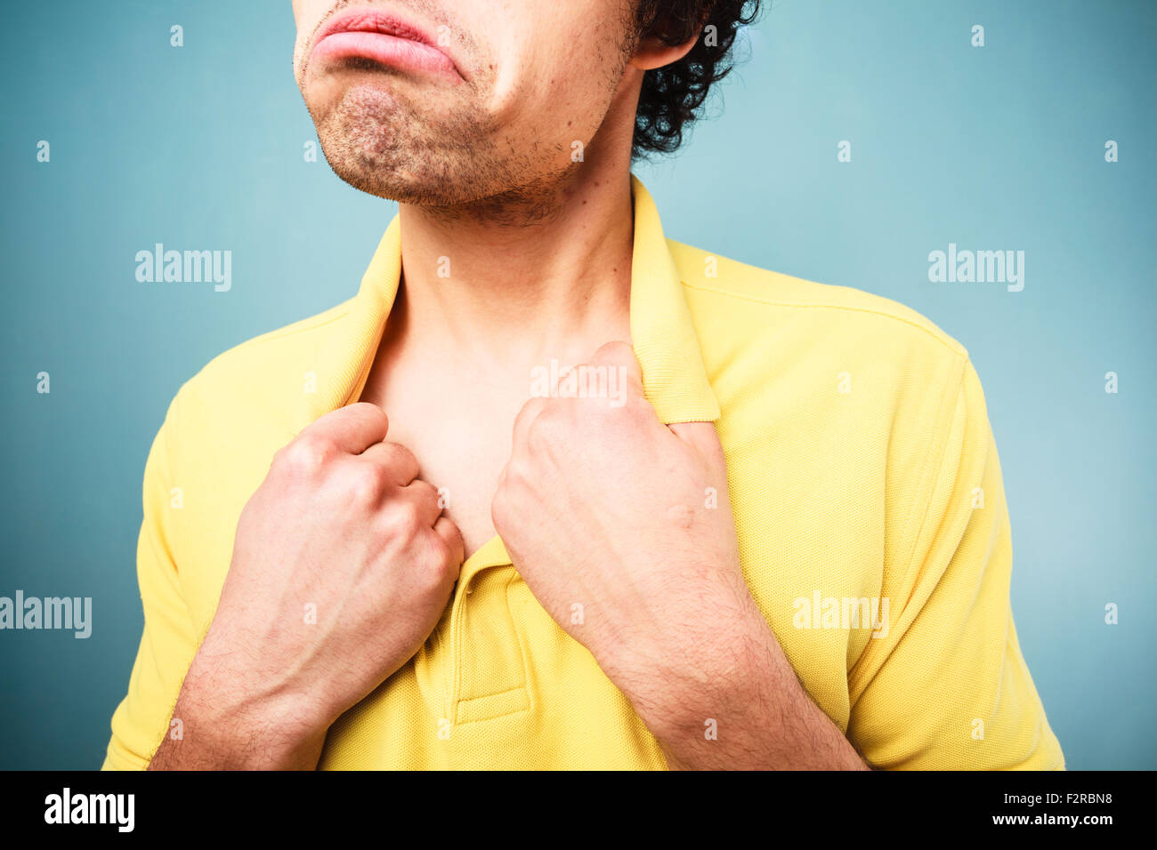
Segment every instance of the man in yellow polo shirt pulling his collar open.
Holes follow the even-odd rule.
[[[967,353],[665,239],[631,173],[744,12],[295,1],[399,214],[170,406],[105,767],[1063,767]]]

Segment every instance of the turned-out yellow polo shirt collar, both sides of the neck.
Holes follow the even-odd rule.
[[[718,401],[703,368],[699,339],[679,272],[663,236],[658,210],[631,175],[634,246],[631,261],[631,337],[642,368],[643,392],[664,423],[713,422]],[[302,394],[297,429],[361,394],[374,363],[401,271],[400,216],[382,236],[358,295],[337,318],[315,360],[315,392]]]

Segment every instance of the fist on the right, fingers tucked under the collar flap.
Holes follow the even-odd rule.
[[[642,680],[706,678],[725,624],[754,608],[715,427],[663,424],[626,343],[575,372],[518,414],[494,527],[539,604],[628,696]]]

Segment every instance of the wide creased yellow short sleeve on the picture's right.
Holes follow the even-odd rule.
[[[849,672],[848,739],[882,769],[1063,769],[1012,622],[1012,539],[977,371],[964,360],[913,511],[885,568],[886,633]]]

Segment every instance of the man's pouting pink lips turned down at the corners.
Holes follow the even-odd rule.
[[[322,27],[314,39],[310,61],[340,62],[349,59],[368,59],[398,71],[440,76],[451,82],[465,79],[428,32],[386,12],[348,12]]]

